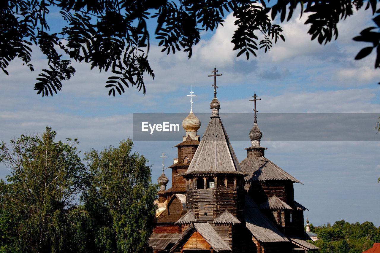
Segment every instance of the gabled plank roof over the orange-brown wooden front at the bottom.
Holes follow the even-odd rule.
[[[206,242],[214,249],[215,252],[219,251],[231,251],[231,248],[224,242],[222,237],[212,228],[209,223],[193,222],[173,245],[170,252],[176,250],[181,242],[188,239],[188,234],[192,231],[198,231],[199,234],[206,240]],[[190,234],[191,236],[191,234]]]

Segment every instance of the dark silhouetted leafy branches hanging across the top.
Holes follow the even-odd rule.
[[[257,50],[267,52],[277,40],[285,40],[280,25],[275,24],[276,17],[280,22],[290,20],[297,6],[301,14],[309,15],[305,24],[310,24],[311,40],[320,44],[338,37],[337,23],[351,16],[353,9],[370,8],[374,26],[365,28],[354,40],[372,45],[361,49],[355,59],[376,49],[378,68],[378,1],[278,0],[269,7],[269,0],[7,0],[0,8],[0,68],[8,74],[9,62],[19,58],[33,71],[32,46],[38,46],[48,66],[36,78],[37,94],[47,96],[61,90],[62,81],[75,72],[70,60],[110,70],[108,95],[121,95],[124,87],[130,86],[145,93],[144,74],[154,78],[147,58],[151,41],[148,19],[157,20],[155,38],[163,52],[182,50],[190,58],[192,47],[200,40],[199,32],[223,25],[225,13],[233,12],[237,18],[237,30],[231,38],[233,50],[249,59]],[[64,25],[59,32],[51,32],[46,19],[52,9],[58,9],[62,16]],[[260,41],[259,35],[264,37]]]

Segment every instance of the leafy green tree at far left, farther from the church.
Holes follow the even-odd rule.
[[[55,131],[22,135],[0,146],[10,175],[0,182],[0,250],[5,252],[83,252],[89,225],[76,206],[86,168],[75,145],[54,142]]]

